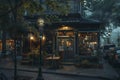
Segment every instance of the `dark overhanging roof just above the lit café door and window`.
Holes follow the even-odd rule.
[[[45,26],[45,29],[57,29],[62,26],[70,26],[77,30],[97,30],[99,29],[101,23],[97,21],[91,21],[87,19],[80,19],[80,20],[71,20],[71,21],[59,21],[59,22],[52,22],[51,24]]]

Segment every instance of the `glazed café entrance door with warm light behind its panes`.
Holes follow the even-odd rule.
[[[74,58],[74,38],[59,37],[58,52],[63,60],[72,60]]]

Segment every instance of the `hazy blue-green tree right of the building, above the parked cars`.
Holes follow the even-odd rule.
[[[86,14],[91,13],[91,15],[86,15],[87,18],[92,18],[99,20],[104,23],[103,35],[110,33],[110,30],[116,28],[119,24],[117,19],[120,13],[120,1],[119,0],[84,0],[84,10],[87,11]],[[111,24],[114,26],[112,27]]]

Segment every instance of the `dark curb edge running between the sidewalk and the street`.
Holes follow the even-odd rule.
[[[4,70],[14,70],[14,68],[0,68]],[[34,72],[37,73],[38,70],[30,70],[30,69],[17,69],[18,71],[26,71],[26,72]],[[66,75],[66,76],[73,76],[73,77],[88,77],[88,78],[96,78],[96,79],[103,79],[103,80],[119,80],[120,77],[115,77],[115,78],[108,78],[108,77],[103,77],[103,76],[93,76],[93,75],[88,75],[88,74],[77,74],[77,73],[69,73],[69,72],[59,72],[55,70],[43,70],[42,73],[47,73],[47,74],[57,74],[57,75]]]

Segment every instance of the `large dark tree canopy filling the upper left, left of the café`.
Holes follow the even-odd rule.
[[[23,27],[23,25],[19,24],[23,24],[23,16],[25,14],[30,16],[45,14],[47,10],[59,14],[67,14],[69,11],[68,5],[65,5],[67,4],[67,0],[0,0],[0,2],[2,2],[0,3],[0,28],[4,34],[3,36],[5,36],[6,32],[11,33],[13,36],[14,33],[24,30],[23,28],[20,28]],[[50,22],[50,18],[53,17],[54,19],[57,18],[56,16],[51,15],[45,16],[48,22]],[[3,37],[3,41],[3,46],[6,47],[5,37]]]

